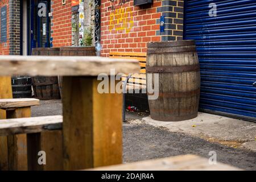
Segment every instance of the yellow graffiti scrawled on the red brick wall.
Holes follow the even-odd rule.
[[[134,26],[133,11],[130,7],[114,10],[110,13],[110,30],[125,30],[130,32]]]

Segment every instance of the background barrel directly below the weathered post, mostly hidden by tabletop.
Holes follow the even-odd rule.
[[[96,56],[95,47],[61,47],[60,56]],[[62,97],[62,76],[58,76],[60,95]]]

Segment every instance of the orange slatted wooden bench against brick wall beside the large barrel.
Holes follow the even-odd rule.
[[[131,75],[127,82],[127,89],[146,89],[146,56],[143,52],[110,52],[109,57],[117,59],[137,59],[141,67],[140,73]],[[123,82],[128,75],[123,76]]]

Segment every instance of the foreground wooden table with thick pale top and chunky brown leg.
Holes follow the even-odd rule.
[[[0,56],[0,76],[63,76],[65,170],[122,163],[122,94],[97,91],[97,76],[111,77],[110,69],[139,73],[140,67],[137,60],[96,56]]]

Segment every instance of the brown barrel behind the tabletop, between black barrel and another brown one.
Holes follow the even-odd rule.
[[[33,48],[33,56],[59,56],[60,48]],[[32,77],[32,85],[34,89],[35,98],[40,100],[57,100],[60,99],[60,89],[58,84],[58,77]]]

